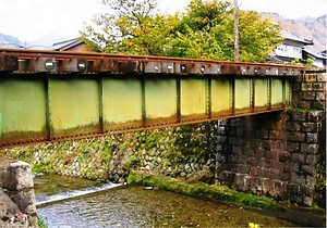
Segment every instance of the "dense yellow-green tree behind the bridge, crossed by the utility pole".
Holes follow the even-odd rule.
[[[234,59],[233,7],[230,1],[192,0],[177,30],[171,55]],[[280,27],[254,11],[240,11],[240,59],[263,62],[281,38]]]

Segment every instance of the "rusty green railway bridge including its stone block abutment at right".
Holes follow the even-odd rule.
[[[325,202],[326,69],[0,49],[1,150],[215,119],[216,180]]]

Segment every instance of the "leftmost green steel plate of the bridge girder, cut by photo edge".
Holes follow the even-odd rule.
[[[44,81],[2,78],[0,80],[0,113],[2,141],[24,141],[46,137]]]

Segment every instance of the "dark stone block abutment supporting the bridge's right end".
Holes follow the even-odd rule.
[[[219,122],[219,182],[313,205],[326,154],[326,73],[294,78],[292,109]]]

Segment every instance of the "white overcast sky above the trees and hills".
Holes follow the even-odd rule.
[[[75,38],[94,15],[106,11],[100,0],[0,0],[0,34],[33,41],[49,34]],[[190,0],[158,0],[162,12],[182,11]],[[241,10],[275,12],[287,18],[322,16],[327,0],[239,0]],[[55,35],[53,35],[55,36]],[[59,40],[61,41],[61,40]]]

